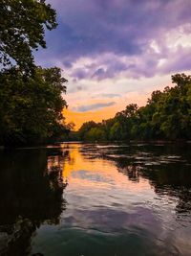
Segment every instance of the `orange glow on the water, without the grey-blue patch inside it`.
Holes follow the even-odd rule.
[[[63,162],[62,176],[64,180],[68,180],[70,186],[74,188],[91,187],[91,190],[97,188],[97,186],[107,189],[111,187],[111,183],[116,183],[116,186],[120,189],[131,189],[131,191],[142,191],[150,187],[149,182],[144,179],[140,179],[137,186],[127,178],[126,175],[118,173],[117,166],[112,160],[105,160],[101,158],[90,159],[90,152],[87,155],[83,155],[80,149],[83,146],[80,144],[62,144],[63,151],[69,151],[70,156]],[[98,183],[90,179],[81,179],[77,173],[85,171],[90,174],[98,174],[103,177],[103,180],[99,180]],[[109,181],[108,181],[109,179]]]

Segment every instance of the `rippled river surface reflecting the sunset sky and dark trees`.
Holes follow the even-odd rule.
[[[0,255],[191,255],[190,150],[0,151]]]

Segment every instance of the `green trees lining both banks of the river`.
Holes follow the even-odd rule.
[[[127,105],[114,118],[71,132],[62,115],[66,79],[59,67],[36,66],[46,48],[45,29],[57,26],[45,0],[0,0],[0,145],[41,144],[65,138],[103,140],[191,139],[191,77],[172,76],[174,87],[154,91],[147,105]],[[66,135],[64,135],[66,134]],[[69,134],[69,135],[68,135]]]

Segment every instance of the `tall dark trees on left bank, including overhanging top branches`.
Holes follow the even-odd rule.
[[[0,1],[0,145],[46,143],[68,130],[67,80],[60,68],[36,66],[33,58],[46,48],[45,29],[56,26],[45,0]]]

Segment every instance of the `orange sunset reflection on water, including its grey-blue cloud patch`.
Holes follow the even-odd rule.
[[[145,189],[151,192],[148,180],[138,177],[138,167],[125,168],[133,177],[130,180],[123,174],[124,172],[120,172],[115,161],[94,157],[94,152],[84,151],[83,147],[82,144],[62,144],[63,153],[67,155],[63,162],[62,176],[75,187],[75,190],[88,187],[92,190],[97,187],[105,189],[118,187],[128,188],[137,193],[138,191],[145,193]]]

